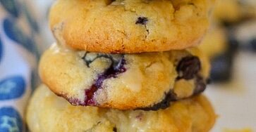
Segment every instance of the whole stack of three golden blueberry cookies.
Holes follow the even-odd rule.
[[[30,130],[209,131],[216,116],[200,95],[209,62],[192,46],[207,31],[210,4],[56,1],[57,42],[40,60]]]

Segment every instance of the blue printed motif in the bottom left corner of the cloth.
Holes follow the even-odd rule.
[[[23,122],[20,114],[13,107],[0,108],[0,131],[1,132],[21,132]]]

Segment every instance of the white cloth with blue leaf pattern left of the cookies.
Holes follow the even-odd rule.
[[[25,107],[38,85],[40,29],[29,9],[0,0],[0,132],[25,131]]]

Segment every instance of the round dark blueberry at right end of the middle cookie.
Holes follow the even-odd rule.
[[[178,72],[177,79],[193,79],[200,69],[201,63],[196,56],[182,58],[176,67],[176,71]]]

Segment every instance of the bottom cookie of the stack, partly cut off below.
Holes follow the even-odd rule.
[[[30,131],[171,131],[205,132],[216,114],[207,98],[197,95],[173,103],[166,110],[114,110],[70,105],[42,85],[37,88],[26,114]]]

